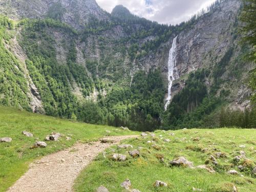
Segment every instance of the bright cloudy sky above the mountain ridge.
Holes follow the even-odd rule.
[[[133,14],[161,24],[180,24],[216,0],[96,0],[111,13],[116,5],[123,5]]]

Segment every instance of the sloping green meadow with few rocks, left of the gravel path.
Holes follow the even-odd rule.
[[[32,160],[70,147],[76,141],[97,140],[106,135],[106,130],[111,131],[111,136],[138,134],[110,126],[72,122],[0,106],[0,138],[12,138],[11,143],[0,142],[0,191],[5,191],[22,176]],[[22,135],[23,131],[31,132],[34,137]],[[44,141],[52,132],[59,132],[72,139],[61,137],[59,142],[47,142],[46,148],[30,150],[35,141]]]

